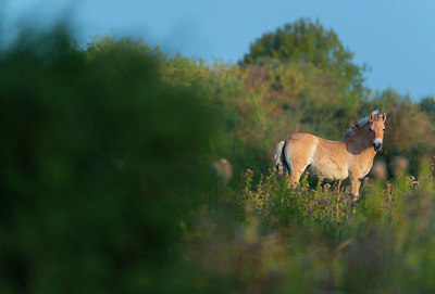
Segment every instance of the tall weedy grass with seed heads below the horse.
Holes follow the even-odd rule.
[[[431,293],[435,259],[434,165],[419,180],[368,180],[352,202],[347,191],[307,178],[290,190],[271,170],[222,195],[228,214],[200,214],[187,237],[187,258],[202,269],[199,289],[216,293]],[[224,204],[225,203],[225,204]],[[224,220],[225,219],[225,220]],[[220,281],[214,283],[214,281]]]

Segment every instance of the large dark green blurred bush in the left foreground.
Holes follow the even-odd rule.
[[[183,290],[173,245],[207,201],[214,111],[128,39],[71,43],[54,29],[0,54],[0,292]]]

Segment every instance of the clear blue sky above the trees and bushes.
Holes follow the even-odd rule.
[[[3,21],[69,18],[80,43],[97,34],[144,38],[164,50],[237,62],[263,33],[319,18],[366,63],[368,86],[435,95],[435,1],[419,0],[7,0]]]

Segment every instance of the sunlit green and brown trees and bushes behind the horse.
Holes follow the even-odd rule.
[[[353,53],[319,22],[302,18],[264,34],[238,64],[153,52],[165,80],[196,86],[210,104],[222,106],[225,130],[215,154],[239,170],[264,172],[276,142],[290,132],[339,140],[351,123],[373,110],[388,114],[385,149],[376,159],[390,163],[402,155],[417,174],[421,157],[435,150],[434,98],[394,89],[374,92],[364,82],[368,66],[355,63]]]

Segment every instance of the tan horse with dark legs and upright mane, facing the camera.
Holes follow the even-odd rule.
[[[275,165],[279,174],[288,170],[290,184],[299,182],[308,169],[331,180],[350,178],[350,193],[359,197],[362,178],[369,174],[376,152],[382,148],[385,113],[372,112],[358,119],[341,141],[330,141],[310,133],[291,133],[276,146]]]

